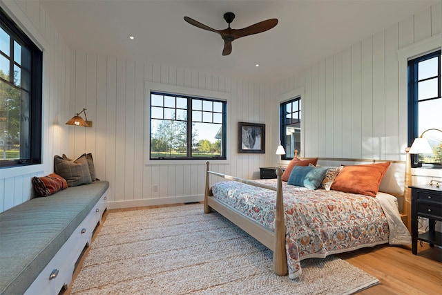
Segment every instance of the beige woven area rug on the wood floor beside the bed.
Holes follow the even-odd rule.
[[[273,274],[273,252],[202,204],[109,213],[71,294],[352,294],[379,283],[345,260]]]

